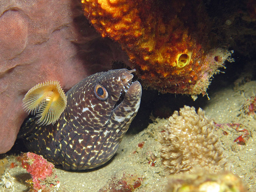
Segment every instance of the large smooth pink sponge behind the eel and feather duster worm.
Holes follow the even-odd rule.
[[[67,91],[124,60],[120,46],[90,27],[79,0],[0,1],[0,26],[0,153],[28,116],[22,99],[30,88],[57,80]]]

